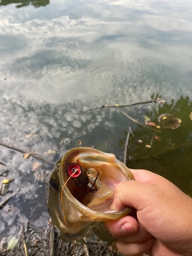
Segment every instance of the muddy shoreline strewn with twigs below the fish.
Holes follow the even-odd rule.
[[[45,230],[21,226],[17,236],[18,242],[14,248],[7,250],[10,238],[0,241],[0,255],[2,256],[119,256],[122,255],[112,249],[107,242],[99,240],[93,233],[90,238],[82,242],[62,242],[58,230],[48,223]]]

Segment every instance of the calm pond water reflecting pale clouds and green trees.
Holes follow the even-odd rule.
[[[3,142],[43,154],[56,162],[71,147],[94,146],[123,159],[128,126],[127,165],[162,174],[192,194],[192,3],[190,1],[20,1],[0,2],[0,134]],[[144,123],[163,113],[182,119],[178,130],[148,130],[116,109],[88,110],[115,103],[165,104],[122,110]],[[30,134],[33,134],[30,135]],[[158,136],[161,142],[151,139]],[[62,143],[70,138],[69,143]],[[138,139],[142,143],[138,143]],[[44,178],[24,159],[0,147],[10,166],[10,189],[18,194],[0,211],[0,234],[18,232],[30,218],[48,220]],[[3,197],[2,197],[3,198]],[[7,214],[7,210],[9,210]],[[15,222],[15,219],[17,222]]]

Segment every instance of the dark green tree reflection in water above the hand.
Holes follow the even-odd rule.
[[[154,106],[152,110],[146,111],[146,116],[156,124],[159,124],[158,116],[161,114],[173,114],[174,117],[181,118],[182,124],[176,130],[161,129],[157,131],[138,126],[134,130],[134,137],[129,142],[127,166],[152,170],[169,178],[191,194],[191,111],[190,98],[182,96],[177,101],[171,100],[170,103]],[[154,136],[158,136],[159,140],[155,140]],[[123,138],[122,142],[125,140],[126,138]],[[141,140],[142,143],[139,143],[138,140]],[[146,145],[150,145],[150,143],[151,148],[146,148]]]

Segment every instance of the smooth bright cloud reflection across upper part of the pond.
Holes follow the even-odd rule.
[[[190,92],[181,85],[192,64],[192,25],[180,2],[171,10],[162,2],[161,12],[153,1],[74,4],[0,10],[6,98],[91,104],[95,97],[114,103],[145,100],[149,91],[167,98]]]

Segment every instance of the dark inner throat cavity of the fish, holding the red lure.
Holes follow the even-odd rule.
[[[103,182],[104,174],[98,168],[83,168],[78,163],[66,167],[70,193],[84,206],[95,211],[110,210],[113,201],[114,186],[111,189]],[[110,182],[111,181],[111,182]],[[109,177],[108,183],[116,183]]]

